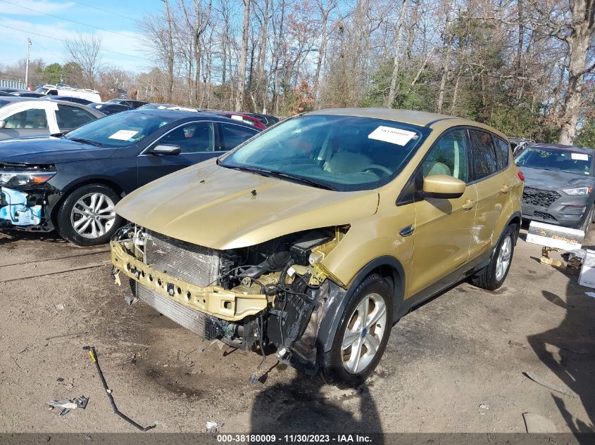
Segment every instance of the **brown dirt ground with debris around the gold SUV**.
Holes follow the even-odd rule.
[[[251,385],[258,354],[125,304],[106,247],[0,233],[0,432],[134,432],[111,411],[87,344],[120,409],[156,432],[201,432],[208,420],[243,433],[525,432],[522,413],[592,432],[595,298],[540,251],[521,239],[501,290],[461,283],[405,316],[368,384],[349,389],[272,357]],[[45,405],[81,394],[87,408],[65,416]]]

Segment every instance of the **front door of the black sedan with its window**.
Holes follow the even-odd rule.
[[[151,149],[160,144],[178,146],[181,153],[179,155],[152,153]],[[154,143],[151,143],[137,157],[139,186],[219,155],[220,152],[215,149],[219,145],[215,122],[186,122],[171,129]]]

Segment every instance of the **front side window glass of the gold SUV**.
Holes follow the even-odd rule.
[[[463,182],[468,181],[468,144],[465,133],[465,129],[449,131],[434,143],[422,165],[424,178],[432,174],[445,174]]]

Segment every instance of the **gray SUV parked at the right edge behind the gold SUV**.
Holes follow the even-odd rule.
[[[593,153],[549,143],[525,148],[515,160],[525,176],[522,217],[587,232],[595,212]]]

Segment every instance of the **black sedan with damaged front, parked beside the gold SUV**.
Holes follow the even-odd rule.
[[[106,243],[122,223],[113,207],[124,195],[258,132],[200,112],[132,110],[61,138],[0,141],[0,226]]]

